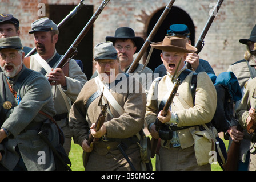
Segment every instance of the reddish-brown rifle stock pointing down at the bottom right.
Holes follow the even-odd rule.
[[[237,125],[237,130],[243,131],[241,125]],[[232,142],[227,152],[227,162],[223,164],[224,171],[237,171],[238,168],[238,157],[239,157],[239,147],[241,142]]]

